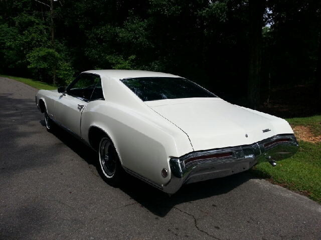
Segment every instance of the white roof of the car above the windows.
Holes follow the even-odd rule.
[[[133,78],[133,77],[148,77],[148,76],[155,76],[155,77],[180,77],[177,75],[164,73],[164,72],[156,72],[156,71],[142,71],[142,70],[115,70],[115,69],[108,69],[108,70],[88,70],[84,72],[96,73],[101,76],[117,78],[117,79],[124,79],[124,78]]]

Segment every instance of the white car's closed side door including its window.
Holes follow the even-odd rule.
[[[96,94],[94,89],[97,85],[101,86],[99,75],[81,73],[55,102],[56,120],[79,136],[82,111]]]

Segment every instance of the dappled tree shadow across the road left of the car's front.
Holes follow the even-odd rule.
[[[6,177],[51,164],[41,160],[38,152],[46,152],[50,146],[42,144],[42,130],[35,128],[42,117],[35,100],[15,97],[13,93],[0,93],[0,172]],[[56,153],[51,154],[54,159]]]

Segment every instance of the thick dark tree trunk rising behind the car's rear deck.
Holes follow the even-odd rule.
[[[250,49],[247,97],[253,109],[258,109],[260,106],[262,24],[265,6],[263,2],[265,0],[249,0]]]

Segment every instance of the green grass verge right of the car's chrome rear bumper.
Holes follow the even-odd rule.
[[[321,115],[290,118],[287,121],[292,126],[307,126],[313,134],[321,135]],[[295,155],[278,162],[275,167],[263,162],[250,171],[321,203],[321,142],[299,141],[299,145]]]

